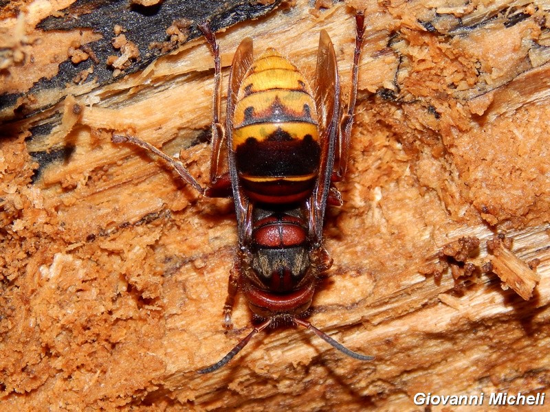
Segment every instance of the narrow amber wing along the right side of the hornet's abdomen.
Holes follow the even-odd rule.
[[[334,155],[340,124],[340,82],[336,54],[329,34],[322,30],[317,53],[315,101],[319,113],[321,160],[319,177],[311,197],[311,230],[315,242],[322,240],[327,196],[331,185]]]

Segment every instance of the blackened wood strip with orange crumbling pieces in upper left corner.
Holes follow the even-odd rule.
[[[208,20],[217,31],[263,16],[279,3],[65,1],[67,7],[52,10],[50,15],[45,14],[47,7],[17,8],[14,4],[0,9],[1,19],[13,18],[19,10],[21,21],[20,30],[0,41],[6,57],[1,67],[5,72],[0,72],[0,119],[28,116],[66,95],[84,95],[136,73],[199,37],[198,23]],[[39,19],[31,35],[25,32],[25,18]],[[43,56],[43,47],[53,48],[52,59]],[[34,70],[21,71],[23,65],[34,66]]]

